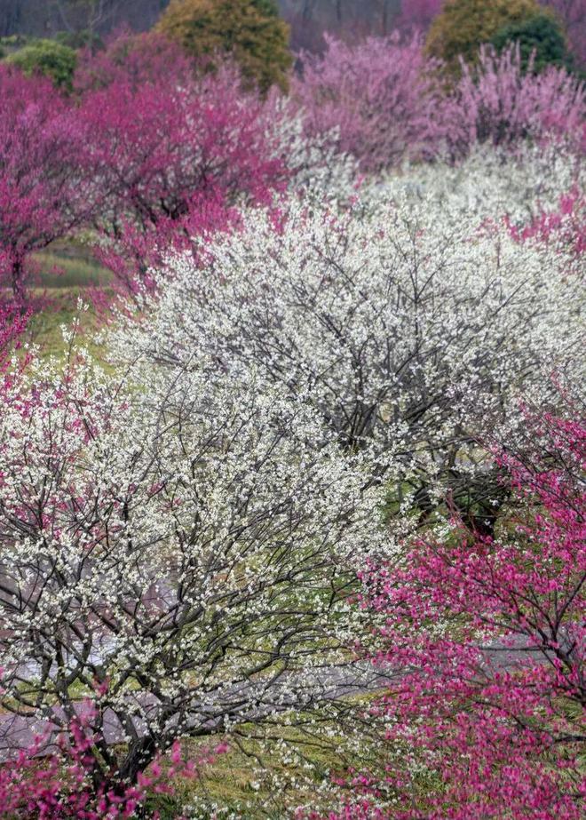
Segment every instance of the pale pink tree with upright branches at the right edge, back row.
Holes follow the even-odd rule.
[[[521,70],[518,49],[497,55],[482,47],[479,65],[463,63],[462,71],[442,112],[452,156],[477,142],[513,148],[523,139],[563,139],[586,147],[586,90],[564,69],[535,76]]]

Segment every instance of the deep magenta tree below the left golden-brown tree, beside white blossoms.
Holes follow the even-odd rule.
[[[124,283],[160,249],[226,227],[235,203],[266,204],[284,187],[265,104],[239,84],[226,66],[185,84],[172,72],[138,85],[119,76],[84,95],[86,163],[107,192],[99,258]]]

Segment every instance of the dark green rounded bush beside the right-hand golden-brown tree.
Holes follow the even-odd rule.
[[[502,52],[511,43],[518,43],[524,70],[527,69],[532,54],[535,54],[535,73],[547,66],[566,68],[568,71],[574,68],[574,59],[568,50],[563,28],[552,14],[546,12],[500,28],[491,43],[498,52]]]

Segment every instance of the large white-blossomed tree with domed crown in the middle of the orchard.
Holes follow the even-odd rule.
[[[335,217],[292,203],[281,228],[246,214],[234,235],[206,237],[199,261],[170,259],[118,352],[204,359],[210,380],[256,369],[374,474],[390,469],[425,516],[434,494],[486,483],[479,437],[514,424],[520,390],[571,367],[583,340],[570,259],[457,207],[398,195]]]

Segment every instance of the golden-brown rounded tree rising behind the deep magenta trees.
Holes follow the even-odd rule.
[[[212,67],[216,55],[231,54],[262,92],[287,88],[289,27],[273,0],[171,0],[156,29]]]

